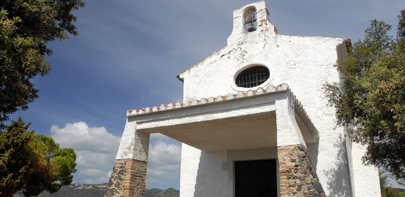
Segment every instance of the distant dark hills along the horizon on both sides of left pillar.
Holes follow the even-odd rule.
[[[85,184],[85,183],[73,183],[67,186],[63,186],[58,192],[50,194],[48,191],[44,191],[38,196],[41,197],[103,197],[107,191],[108,183],[103,184]],[[146,189],[145,197],[179,197],[180,191],[168,188],[168,189]],[[16,194],[14,197],[23,197],[21,194]]]

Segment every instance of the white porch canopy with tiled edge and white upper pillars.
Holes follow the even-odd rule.
[[[147,161],[149,134],[205,152],[315,143],[318,133],[288,85],[127,112],[116,159]]]

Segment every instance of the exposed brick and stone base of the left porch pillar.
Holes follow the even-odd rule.
[[[147,162],[135,159],[115,160],[105,197],[145,196]]]

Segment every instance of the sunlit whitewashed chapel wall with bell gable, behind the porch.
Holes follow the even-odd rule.
[[[252,6],[256,8],[258,29],[245,33],[242,15]],[[344,130],[335,128],[335,109],[327,105],[322,91],[322,85],[326,82],[339,82],[339,73],[334,64],[338,58],[345,56],[345,40],[278,34],[268,20],[268,9],[264,2],[237,9],[233,15],[234,26],[227,46],[178,76],[184,82],[184,101],[247,91],[248,88],[234,85],[235,75],[250,65],[266,66],[270,70],[270,79],[258,87],[289,84],[319,132],[319,142],[307,146],[312,165],[327,196],[378,196],[379,184],[374,181],[378,180],[378,172],[374,168],[363,167],[360,161],[362,152],[356,151],[358,147],[346,149]],[[221,190],[224,193],[220,196],[232,196],[229,192],[233,191],[230,189],[233,179],[221,171],[223,162],[229,160],[227,155],[225,152],[201,153],[183,144],[181,196],[209,196],[198,191],[209,191],[211,186],[200,188],[205,187],[200,185],[226,188]],[[203,164],[210,166],[201,166]],[[361,174],[369,176],[362,177],[358,174],[359,170]],[[199,174],[215,175],[215,185],[213,178]],[[370,179],[373,181],[370,182]],[[368,188],[369,192],[364,195],[360,192],[352,194],[352,191],[357,191],[354,187]]]

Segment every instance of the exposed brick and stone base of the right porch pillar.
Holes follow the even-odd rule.
[[[305,147],[302,145],[279,146],[277,155],[281,197],[326,197]]]

